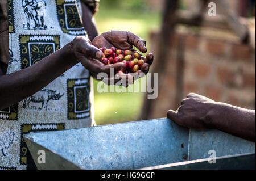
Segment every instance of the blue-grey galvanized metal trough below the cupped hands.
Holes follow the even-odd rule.
[[[255,169],[254,142],[167,118],[35,132],[24,139],[38,169]],[[45,151],[46,163],[38,163],[38,150]]]

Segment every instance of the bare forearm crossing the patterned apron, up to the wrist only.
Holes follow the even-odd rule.
[[[69,56],[65,45],[38,63],[0,77],[0,110],[11,106],[43,89],[78,61]]]

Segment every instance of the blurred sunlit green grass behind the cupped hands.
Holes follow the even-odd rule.
[[[149,33],[160,26],[160,11],[149,7],[143,0],[101,0],[95,16],[100,32],[109,30],[131,31],[147,41]],[[135,81],[135,84],[141,80]],[[144,93],[99,93],[94,80],[94,107],[97,125],[138,120]]]

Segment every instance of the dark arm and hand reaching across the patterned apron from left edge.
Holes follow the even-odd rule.
[[[90,40],[77,36],[63,48],[26,69],[0,75],[0,110],[9,107],[43,89],[79,61],[94,74],[109,73],[110,68],[122,69],[123,64],[104,65],[102,52]]]

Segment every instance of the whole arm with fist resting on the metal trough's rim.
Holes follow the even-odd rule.
[[[188,94],[177,111],[167,117],[188,128],[219,129],[255,142],[255,110],[215,102],[198,94]]]

